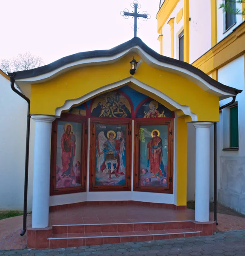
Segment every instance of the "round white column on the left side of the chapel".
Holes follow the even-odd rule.
[[[35,145],[33,168],[32,227],[49,226],[51,125],[54,116],[33,115]]]

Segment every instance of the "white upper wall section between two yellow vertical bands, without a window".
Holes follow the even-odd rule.
[[[190,63],[211,48],[210,1],[190,0]]]

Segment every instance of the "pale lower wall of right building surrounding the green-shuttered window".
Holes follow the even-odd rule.
[[[218,201],[245,214],[245,67],[244,55],[218,70],[218,81],[243,90],[238,102],[239,150],[222,151],[229,147],[229,108],[220,113],[217,124]],[[230,102],[222,100],[220,105]]]

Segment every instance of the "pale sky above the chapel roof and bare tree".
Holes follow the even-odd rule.
[[[159,52],[156,13],[159,0],[138,0],[137,36]],[[133,38],[130,23],[120,15],[133,0],[0,0],[0,59],[31,52],[45,64],[77,52],[110,49]]]

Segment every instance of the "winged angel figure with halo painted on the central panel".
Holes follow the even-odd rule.
[[[97,168],[99,172],[109,176],[108,180],[112,179],[112,174],[115,177],[124,175],[124,172],[119,171],[124,168],[125,143],[122,132],[118,131],[116,139],[115,137],[115,131],[107,132],[108,139],[105,137],[104,131],[101,131],[96,141]]]

